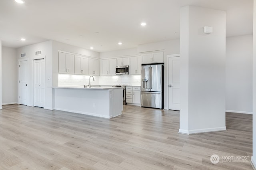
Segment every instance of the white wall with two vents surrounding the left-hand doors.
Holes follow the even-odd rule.
[[[35,51],[42,50],[42,55],[35,55]],[[45,58],[45,108],[53,108],[52,96],[52,41],[36,43],[20,47],[16,51],[17,59],[28,59],[28,106],[34,106],[34,59]],[[20,57],[21,53],[26,53],[26,57]]]

